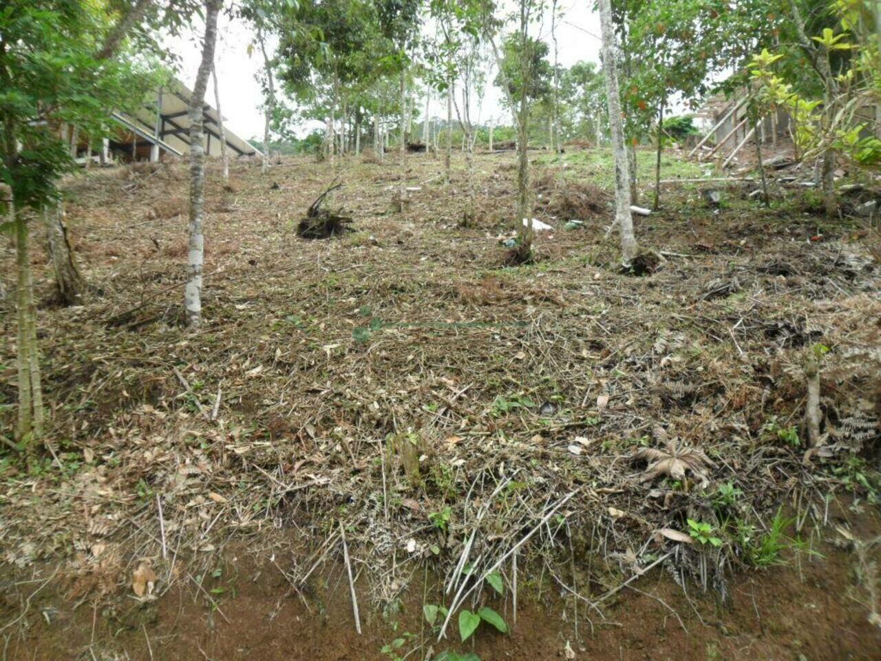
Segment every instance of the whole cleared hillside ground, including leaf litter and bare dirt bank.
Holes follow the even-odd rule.
[[[652,156],[641,157],[646,181]],[[724,185],[718,208],[704,201],[706,184],[670,184],[663,209],[637,221],[640,242],[667,261],[638,278],[618,271],[617,236],[606,236],[608,155],[574,150],[556,163],[535,152],[533,161],[536,217],[553,229],[537,234],[537,262],[518,267],[505,265],[501,242],[515,202],[513,153],[478,154],[474,228],[459,227],[467,187],[458,156],[449,186],[441,160],[408,156],[406,183],[419,189],[403,214],[392,211],[394,158],[338,168],[292,160],[265,178],[240,163],[231,190],[212,169],[198,333],[180,325],[186,167],[71,181],[68,221],[93,291],[81,307],[40,313],[63,465],[11,455],[0,464],[0,626],[10,622],[11,658],[54,658],[64,644],[83,658],[142,658],[145,640],[158,658],[204,658],[183,632],[202,630],[205,617],[198,642],[208,657],[306,658],[313,648],[296,656],[300,639],[270,626],[290,628],[295,616],[317,646],[312,658],[389,657],[379,643],[396,638],[396,621],[415,636],[400,656],[419,648],[414,657],[424,657],[422,605],[450,605],[459,585],[498,561],[504,597],[484,584],[463,605],[492,605],[513,624],[517,586],[527,614],[510,641],[478,630],[484,659],[565,657],[567,640],[578,657],[752,658],[759,638],[770,641],[760,646],[767,658],[798,657],[796,635],[809,658],[871,658],[881,642],[867,620],[877,576],[851,569],[877,559],[877,227],[826,221],[810,191],[777,183],[769,210],[749,197],[754,182]],[[664,155],[664,179],[702,172]],[[333,182],[343,187],[329,207],[342,207],[354,231],[300,239],[300,219]],[[38,289],[48,301],[48,279]],[[11,301],[4,306],[13,338]],[[803,362],[813,351],[823,352],[829,436],[805,465]],[[13,357],[10,342],[0,355],[7,404]],[[691,472],[641,479],[637,453],[666,444],[706,453],[707,486]],[[662,532],[695,533],[688,519],[709,526],[707,542]],[[369,629],[358,640],[369,644],[350,637],[341,525]],[[775,538],[775,525],[785,534]],[[833,539],[851,550],[832,553]],[[865,562],[853,553],[861,548]],[[755,575],[759,613],[745,624],[751,572],[782,560],[790,568]],[[129,596],[144,562],[163,595],[146,604]],[[469,563],[470,574],[456,570]],[[652,583],[663,604],[620,589],[650,566],[688,595],[706,588],[707,626],[673,583],[631,583]],[[64,616],[53,621],[26,598],[56,567],[38,595]],[[426,576],[431,599],[421,594]],[[774,588],[782,576],[808,583],[789,594]],[[448,585],[456,590],[443,594]],[[797,598],[807,608],[811,594],[829,601],[798,620],[809,629],[768,619]],[[710,617],[715,599],[735,610]],[[389,616],[396,604],[403,614]],[[628,604],[637,619],[626,620]],[[62,633],[85,611],[97,638]],[[747,637],[732,639],[729,620]],[[255,621],[267,637],[233,650],[263,631]],[[640,636],[640,648],[633,628],[658,635]],[[315,640],[322,631],[337,648]],[[673,642],[655,653],[664,632]],[[46,647],[34,647],[38,639]],[[221,639],[231,642],[206,647]],[[355,656],[353,644],[363,645]],[[327,649],[338,651],[316,651]]]

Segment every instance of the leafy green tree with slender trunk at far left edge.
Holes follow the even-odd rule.
[[[146,5],[122,16],[107,4],[62,0],[8,0],[0,8],[0,177],[9,189],[0,228],[16,243],[19,442],[39,441],[45,422],[29,221],[57,204],[60,177],[73,167],[59,127],[107,135],[111,111],[137,107],[152,86],[151,66],[119,55]]]

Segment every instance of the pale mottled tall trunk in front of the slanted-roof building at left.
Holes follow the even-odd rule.
[[[202,45],[202,63],[196,74],[196,85],[189,103],[189,258],[187,286],[184,290],[184,306],[187,323],[198,326],[202,323],[202,265],[204,263],[204,220],[205,201],[205,152],[204,152],[204,103],[208,76],[214,62],[214,45],[217,41],[218,12],[221,0],[205,2],[205,38]],[[263,35],[258,32],[263,48]],[[265,57],[265,48],[263,54]],[[271,74],[270,74],[271,75]],[[270,93],[272,96],[272,93]],[[268,140],[267,140],[268,143]],[[263,145],[265,148],[265,144]],[[265,152],[264,160],[265,166]]]

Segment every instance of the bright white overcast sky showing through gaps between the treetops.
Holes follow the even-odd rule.
[[[590,10],[592,3],[587,0],[560,0],[557,41],[559,44],[558,60],[565,67],[579,61],[599,62],[600,26],[599,16]],[[202,57],[199,39],[204,26],[194,25],[194,29],[177,39],[167,40],[167,48],[181,59],[181,71],[178,76],[190,88],[196,81],[196,71]],[[545,12],[543,20],[532,26],[532,33],[551,44],[551,11]],[[263,135],[263,113],[260,104],[263,92],[260,87],[259,75],[263,67],[263,56],[259,48],[255,48],[248,56],[248,44],[255,41],[253,31],[241,19],[231,20],[224,14],[218,19],[218,43],[215,63],[218,72],[220,108],[226,119],[226,125],[234,133],[246,140]],[[268,46],[274,48],[276,41],[268,39]],[[553,57],[553,53],[551,53]],[[507,120],[507,111],[501,105],[501,92],[492,85],[495,73],[487,77],[485,98],[480,108],[481,122],[490,119]],[[208,85],[205,101],[214,106],[212,85]],[[425,101],[419,106],[420,114],[425,110]],[[472,116],[477,117],[477,108],[472,108]],[[446,107],[441,108],[438,100],[433,100],[430,115],[441,115]],[[508,122],[506,122],[508,123]]]

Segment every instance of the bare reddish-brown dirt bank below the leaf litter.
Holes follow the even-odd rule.
[[[833,524],[846,522],[857,538],[881,533],[881,519],[874,513],[855,516],[842,510],[833,517]],[[583,602],[567,598],[555,583],[527,583],[511,635],[481,628],[473,648],[457,641],[455,621],[447,641],[438,642],[422,619],[422,604],[443,597],[427,590],[423,598],[421,569],[418,586],[384,609],[360,590],[363,635],[354,630],[342,565],[298,590],[282,573],[291,560],[257,557],[245,548],[227,550],[215,565],[220,576],[204,572],[213,605],[181,572],[173,589],[155,601],[75,598],[77,586],[67,581],[63,588],[32,598],[22,613],[27,596],[41,584],[35,576],[3,584],[3,621],[24,614],[4,631],[4,659],[388,659],[381,653],[383,645],[405,637],[400,653],[412,651],[418,659],[432,648],[473,649],[483,661],[545,661],[566,658],[568,644],[574,658],[592,661],[874,661],[881,650],[881,628],[868,621],[868,596],[857,581],[855,553],[839,535],[829,537],[834,543],[815,547],[822,559],[790,553],[786,566],[737,576],[725,603],[694,585],[683,590],[666,572],[655,570],[603,605],[600,617]],[[44,568],[42,574],[48,572]],[[485,601],[513,621],[510,595]]]

